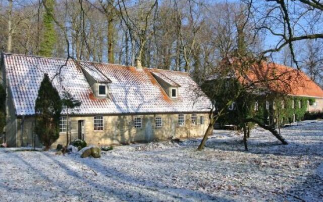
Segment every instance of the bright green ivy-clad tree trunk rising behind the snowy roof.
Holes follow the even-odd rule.
[[[45,12],[43,14],[44,34],[40,43],[39,55],[51,57],[56,43],[56,31],[52,18],[55,0],[43,0],[43,4],[45,7]]]

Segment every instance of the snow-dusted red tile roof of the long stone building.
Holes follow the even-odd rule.
[[[210,101],[200,94],[188,73],[73,60],[4,54],[7,79],[17,115],[33,115],[35,100],[44,73],[53,78],[60,94],[70,92],[82,105],[75,114],[133,114],[207,112]],[[96,98],[84,76],[109,83],[109,98]],[[162,72],[179,86],[178,98],[171,99],[152,73]],[[199,91],[198,93],[196,92]],[[64,113],[64,112],[63,112]]]

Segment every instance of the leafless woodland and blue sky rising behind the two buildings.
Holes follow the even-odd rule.
[[[301,1],[285,2],[293,34],[321,31],[321,10]],[[279,3],[2,0],[0,50],[123,65],[134,65],[137,59],[144,67],[186,71],[199,80],[223,58],[243,49],[302,69],[322,85],[321,38],[293,41],[292,51],[288,45],[271,51],[288,38]]]

